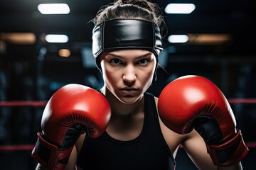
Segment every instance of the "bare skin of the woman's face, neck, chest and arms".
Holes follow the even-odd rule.
[[[105,94],[112,108],[107,133],[117,140],[132,140],[142,131],[144,92],[151,86],[156,57],[146,50],[105,52],[101,56],[101,67],[105,84],[100,91]],[[157,106],[158,98],[155,98],[155,102]],[[205,142],[196,130],[179,135],[169,130],[160,118],[159,123],[174,158],[182,145],[198,169],[242,169],[240,163],[225,168],[214,166]],[[66,169],[74,169],[85,135],[81,135],[76,142]]]

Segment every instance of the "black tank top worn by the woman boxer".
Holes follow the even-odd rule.
[[[92,138],[86,135],[78,156],[78,169],[171,170],[175,160],[161,133],[154,96],[144,94],[142,132],[134,140],[119,141],[107,132]]]

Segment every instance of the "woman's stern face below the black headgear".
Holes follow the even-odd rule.
[[[134,103],[149,88],[156,57],[147,50],[116,50],[101,56],[105,86],[119,101]]]

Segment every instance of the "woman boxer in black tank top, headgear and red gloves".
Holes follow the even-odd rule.
[[[100,8],[93,22],[92,52],[105,97],[84,92],[80,85],[65,86],[53,95],[32,152],[40,163],[37,169],[171,170],[176,169],[180,145],[198,169],[242,169],[247,147],[214,84],[203,77],[181,77],[159,98],[146,92],[163,50],[164,21],[156,4],[117,0]],[[70,99],[68,113],[65,104],[60,107],[63,98]],[[83,113],[74,116],[78,106]],[[56,121],[51,115],[57,112],[61,118],[72,116]],[[59,131],[63,135],[56,137]]]

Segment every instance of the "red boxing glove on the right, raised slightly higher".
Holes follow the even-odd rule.
[[[179,134],[193,128],[203,137],[213,164],[229,166],[248,152],[237,130],[230,105],[213,82],[198,76],[184,76],[169,83],[159,96],[159,116]]]

